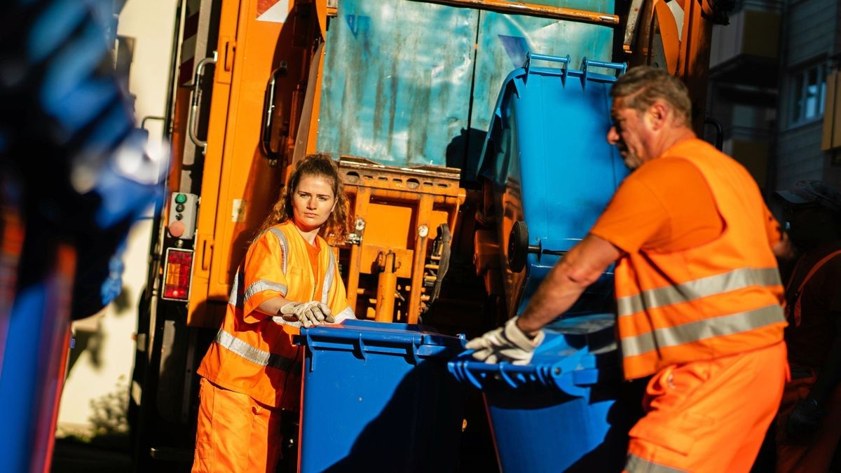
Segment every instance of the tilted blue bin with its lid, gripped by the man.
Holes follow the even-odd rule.
[[[500,468],[511,472],[621,471],[632,424],[622,401],[613,315],[553,322],[532,363],[450,362],[481,389]]]

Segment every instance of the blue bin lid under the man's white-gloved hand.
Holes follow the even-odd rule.
[[[468,350],[450,361],[447,368],[458,380],[479,389],[489,380],[500,378],[514,389],[537,382],[570,396],[584,396],[591,386],[621,377],[614,319],[613,314],[602,313],[547,325],[543,328],[546,338],[530,364],[481,363]]]

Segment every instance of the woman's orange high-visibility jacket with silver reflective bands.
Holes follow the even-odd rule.
[[[256,309],[281,296],[298,302],[320,300],[330,306],[336,322],[355,318],[336,258],[327,242],[318,239],[320,284],[312,274],[308,243],[293,223],[272,226],[251,243],[234,279],[225,320],[198,375],[267,406],[298,408],[302,362],[292,337],[299,333],[300,322]]]

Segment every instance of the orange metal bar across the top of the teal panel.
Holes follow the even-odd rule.
[[[506,2],[505,0],[411,0],[412,2],[440,3],[451,7],[476,8],[497,13],[514,13],[541,18],[565,19],[580,23],[602,24],[615,27],[619,16],[610,13],[590,12],[574,8],[551,7],[534,3]]]

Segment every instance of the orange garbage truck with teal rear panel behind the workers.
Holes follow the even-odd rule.
[[[336,159],[352,233],[333,251],[358,318],[479,334],[516,313],[527,273],[509,254],[516,195],[500,209],[479,173],[505,77],[534,54],[569,67],[656,64],[689,83],[700,127],[721,5],[182,1],[167,205],[152,238],[130,384],[138,468],[192,463],[194,371],[295,162],[313,152]],[[484,422],[470,421],[466,435]]]

